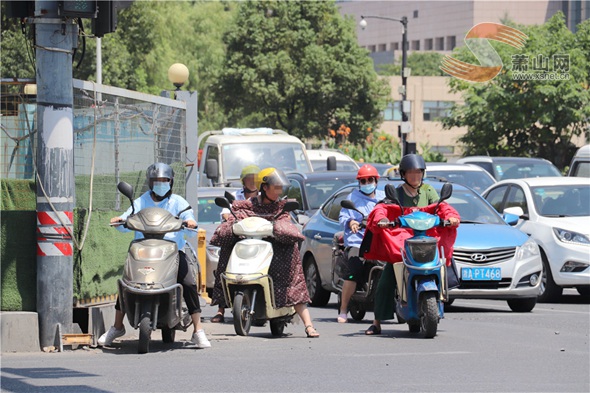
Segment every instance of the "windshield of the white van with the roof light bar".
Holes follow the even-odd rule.
[[[297,143],[229,144],[223,146],[226,179],[239,179],[242,168],[255,164],[260,169],[273,167],[283,171],[311,172],[307,156]]]

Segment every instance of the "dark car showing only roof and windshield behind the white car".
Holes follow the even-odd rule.
[[[479,165],[498,181],[540,176],[561,176],[559,169],[544,158],[470,156],[458,164]]]

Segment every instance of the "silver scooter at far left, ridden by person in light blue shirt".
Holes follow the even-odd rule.
[[[162,341],[172,343],[176,330],[186,331],[192,325],[188,310],[183,306],[182,285],[176,282],[178,246],[164,239],[168,232],[189,228],[178,216],[159,207],[141,209],[136,214],[133,186],[120,182],[117,189],[129,199],[132,212],[127,220],[111,225],[123,225],[144,236],[129,245],[123,278],[117,282],[119,304],[129,324],[139,329],[137,352],[147,353],[152,331],[161,329]],[[190,206],[183,211],[189,209]],[[187,259],[190,257],[187,254]]]

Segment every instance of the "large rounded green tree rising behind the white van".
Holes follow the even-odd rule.
[[[380,122],[389,89],[334,1],[240,3],[224,42],[216,96],[232,125],[305,138],[346,124],[361,140]]]

